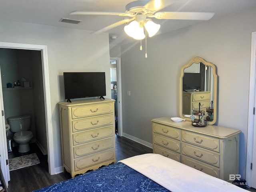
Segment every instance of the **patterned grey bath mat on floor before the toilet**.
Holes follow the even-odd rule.
[[[20,168],[36,165],[39,163],[40,163],[40,160],[38,159],[37,155],[33,153],[33,154],[9,159],[9,169],[10,171],[13,171]]]

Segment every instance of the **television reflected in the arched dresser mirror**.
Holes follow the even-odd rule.
[[[200,90],[201,74],[200,73],[184,73],[183,90]]]

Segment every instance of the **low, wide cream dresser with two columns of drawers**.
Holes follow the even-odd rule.
[[[216,178],[229,180],[238,174],[240,130],[191,122],[152,119],[153,153],[186,164]]]

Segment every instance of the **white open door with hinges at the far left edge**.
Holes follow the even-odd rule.
[[[1,74],[1,70],[0,70]],[[8,186],[8,181],[10,180],[10,171],[8,163],[8,150],[7,150],[7,139],[6,139],[6,130],[5,130],[5,118],[4,118],[4,99],[2,91],[2,78],[0,76],[0,111],[2,113],[2,118],[0,118],[0,163],[1,169],[4,175],[4,180],[6,186]]]

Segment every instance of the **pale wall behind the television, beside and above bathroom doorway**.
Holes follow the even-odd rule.
[[[63,72],[106,72],[106,98],[111,98],[108,34],[90,35],[86,30],[5,21],[0,21],[0,29],[0,42],[47,45],[54,167],[61,167],[57,103],[64,101]]]

